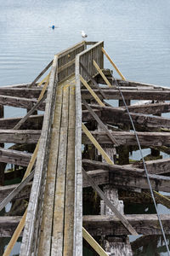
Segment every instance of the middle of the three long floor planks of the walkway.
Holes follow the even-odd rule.
[[[68,97],[69,88],[63,88],[62,118],[60,124],[59,155],[57,166],[56,190],[54,197],[54,221],[53,221],[53,241],[51,245],[51,255],[63,255],[64,225],[65,225],[65,176],[67,160],[67,137],[68,137]]]

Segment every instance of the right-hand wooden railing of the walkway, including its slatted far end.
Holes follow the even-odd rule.
[[[81,82],[80,75],[87,78],[87,73],[82,68],[88,70],[91,76],[94,76],[96,69],[93,64],[95,60],[100,68],[103,68],[103,42],[94,44],[91,48],[82,51],[76,56],[76,147],[75,147],[75,166],[76,166],[76,183],[75,183],[75,202],[77,204],[75,212],[75,254],[74,256],[82,256],[82,98],[81,98]]]

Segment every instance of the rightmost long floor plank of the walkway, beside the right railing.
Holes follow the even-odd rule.
[[[69,127],[65,180],[65,230],[63,255],[73,255],[75,212],[75,85],[70,86]]]

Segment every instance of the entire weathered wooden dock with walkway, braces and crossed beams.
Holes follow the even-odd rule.
[[[170,89],[127,81],[111,61],[121,76],[115,79],[104,56],[111,61],[104,42],[82,41],[54,55],[31,84],[0,87],[0,211],[29,198],[23,216],[0,217],[0,237],[12,236],[2,255],[19,236],[20,256],[81,256],[82,237],[99,255],[133,255],[128,235],[161,235],[156,214],[124,214],[123,201],[151,203],[151,196],[142,162],[129,162],[129,152],[139,148],[120,90],[141,147],[151,150],[145,163],[156,202],[170,207],[169,197],[157,193],[170,192],[170,158],[160,156],[170,152],[170,119],[161,117],[170,112]],[[5,106],[27,114],[4,118]],[[14,177],[22,181],[4,186]],[[88,187],[101,199],[100,209],[83,216],[82,200],[93,201],[83,190]],[[170,216],[161,219],[170,234]]]

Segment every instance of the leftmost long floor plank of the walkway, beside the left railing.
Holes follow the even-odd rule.
[[[54,121],[52,138],[49,150],[48,160],[48,172],[47,182],[44,192],[44,203],[42,209],[42,224],[41,224],[41,236],[38,243],[37,255],[50,255],[51,250],[51,236],[53,230],[53,215],[54,215],[54,193],[55,193],[55,179],[56,179],[56,168],[58,163],[59,154],[59,127],[61,120],[61,105],[62,105],[63,92],[61,87],[57,87],[56,91],[56,104],[54,108]]]

